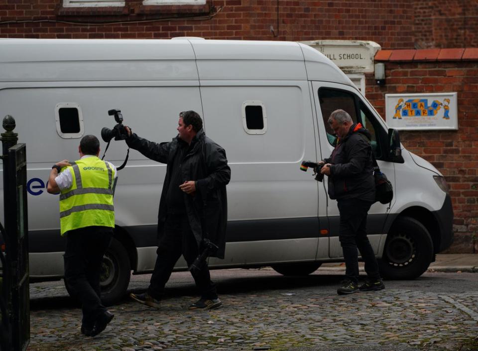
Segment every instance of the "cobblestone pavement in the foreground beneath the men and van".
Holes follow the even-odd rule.
[[[61,283],[32,284],[27,350],[478,350],[476,289],[445,293],[385,282],[379,292],[338,296],[338,276],[296,287],[281,287],[279,277],[266,281],[270,287],[221,281],[223,307],[189,311],[194,285],[189,273],[174,274],[184,281],[168,285],[159,310],[124,300],[110,308],[115,318],[95,338],[81,335],[81,312]],[[133,291],[146,287],[144,278],[130,284]]]

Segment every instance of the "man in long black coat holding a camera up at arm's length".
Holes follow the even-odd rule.
[[[201,117],[194,111],[179,114],[178,135],[170,142],[140,138],[125,127],[129,147],[166,163],[166,177],[159,202],[157,259],[147,292],[130,294],[134,300],[159,308],[164,285],[183,254],[189,266],[203,250],[207,238],[219,247],[209,254],[224,258],[226,245],[226,185],[231,179],[226,152],[208,138]],[[222,305],[211,281],[206,260],[191,270],[201,299],[189,309]]]

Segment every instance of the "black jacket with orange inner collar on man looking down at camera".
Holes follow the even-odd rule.
[[[375,202],[372,148],[370,132],[361,124],[353,124],[349,133],[339,139],[329,158],[331,175],[328,177],[331,199],[353,199]]]

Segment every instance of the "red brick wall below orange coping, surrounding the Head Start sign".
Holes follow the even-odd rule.
[[[455,242],[449,252],[478,253],[478,62],[386,62],[386,84],[367,77],[366,97],[385,116],[385,94],[458,92],[458,130],[401,131],[411,152],[431,162],[450,185]]]

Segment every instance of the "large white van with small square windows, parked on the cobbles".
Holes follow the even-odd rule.
[[[46,192],[51,166],[77,159],[84,134],[113,127],[110,109],[158,142],[176,135],[180,111],[195,110],[206,134],[226,149],[228,243],[225,259],[210,259],[212,268],[270,265],[283,274],[309,274],[322,262],[341,261],[337,202],[328,199],[327,182],[300,171],[302,160],[331,154],[327,118],[338,108],[370,130],[379,166],[394,186],[391,204],[374,204],[368,216],[382,275],[415,278],[452,242],[445,179],[400,146],[396,131],[317,50],[297,42],[200,38],[0,39],[0,116],[15,118],[14,131],[27,146],[31,279],[63,275],[58,198]],[[105,159],[119,166],[126,149],[112,141]],[[115,239],[102,276],[107,303],[125,292],[131,270],[154,267],[165,172],[135,150],[119,171]],[[176,269],[186,269],[185,261]]]

